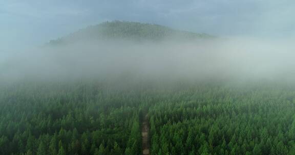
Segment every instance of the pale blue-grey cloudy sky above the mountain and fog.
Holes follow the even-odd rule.
[[[293,36],[295,2],[274,0],[0,1],[0,52],[36,46],[106,20],[214,35]]]

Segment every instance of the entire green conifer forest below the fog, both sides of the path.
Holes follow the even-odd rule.
[[[0,154],[295,154],[295,89],[269,83],[0,88]]]

